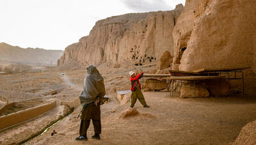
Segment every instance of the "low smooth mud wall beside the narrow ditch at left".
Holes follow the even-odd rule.
[[[6,127],[10,127],[22,121],[29,120],[34,118],[40,114],[43,114],[53,107],[56,106],[56,102],[51,102],[48,104],[43,104],[40,106],[32,107],[23,111],[19,111],[17,113],[12,113],[8,115],[4,115],[0,117],[0,130]]]

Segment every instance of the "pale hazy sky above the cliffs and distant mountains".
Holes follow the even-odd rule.
[[[87,36],[97,20],[173,10],[185,0],[1,0],[0,42],[64,50]]]

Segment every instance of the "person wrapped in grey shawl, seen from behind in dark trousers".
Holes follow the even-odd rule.
[[[104,79],[100,75],[97,68],[93,65],[87,67],[87,74],[84,78],[84,88],[79,96],[83,106],[81,115],[81,125],[77,141],[87,141],[87,130],[92,120],[95,135],[93,139],[100,139],[101,123],[100,123],[100,104],[104,103],[105,86]]]

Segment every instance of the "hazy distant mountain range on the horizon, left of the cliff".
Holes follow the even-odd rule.
[[[42,48],[20,48],[0,43],[0,64],[26,64],[35,66],[56,66],[63,55],[62,50]]]

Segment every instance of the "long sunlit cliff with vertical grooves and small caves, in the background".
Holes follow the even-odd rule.
[[[140,66],[156,62],[166,51],[173,56],[172,31],[182,10],[179,4],[173,11],[130,13],[99,20],[89,36],[65,49],[58,66],[70,61],[83,66],[103,62]]]

